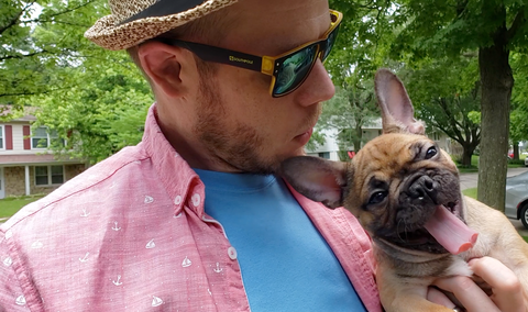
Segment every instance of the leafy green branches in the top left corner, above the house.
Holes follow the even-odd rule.
[[[33,94],[70,88],[69,68],[95,56],[82,34],[101,3],[0,0],[0,102],[23,105]]]

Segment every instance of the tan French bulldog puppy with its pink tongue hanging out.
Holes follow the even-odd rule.
[[[381,69],[375,89],[383,135],[350,163],[289,158],[283,177],[307,198],[358,218],[373,241],[387,312],[453,311],[426,300],[428,287],[441,277],[473,276],[468,261],[483,256],[510,268],[527,299],[528,244],[502,212],[461,193],[457,166],[414,119],[402,81]]]

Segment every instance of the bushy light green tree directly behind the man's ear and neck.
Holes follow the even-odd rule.
[[[34,126],[46,125],[67,142],[52,146],[56,155],[97,163],[142,138],[150,87],[125,53],[100,53],[107,59],[72,70],[77,86],[33,98]]]

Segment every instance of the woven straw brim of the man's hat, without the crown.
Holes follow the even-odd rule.
[[[85,37],[103,48],[124,49],[235,2],[238,0],[208,0],[185,12],[145,18],[125,24],[119,24],[114,15],[107,15],[99,19],[94,26],[86,31]]]

